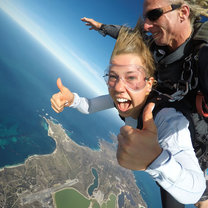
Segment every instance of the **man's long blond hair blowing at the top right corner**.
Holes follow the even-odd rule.
[[[170,0],[170,2],[187,4],[189,6],[191,24],[200,20],[200,16],[208,17],[208,0]]]

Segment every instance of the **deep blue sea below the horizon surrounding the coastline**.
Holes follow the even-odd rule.
[[[42,46],[0,11],[0,167],[23,163],[34,154],[54,151],[43,119],[53,117],[78,144],[98,148],[98,139],[109,140],[121,123],[111,111],[83,115],[66,109],[56,114],[50,98],[57,92],[56,79],[80,95],[93,97],[74,75]],[[109,140],[110,141],[110,140]],[[149,208],[160,208],[157,186],[143,172],[135,172],[137,184]]]

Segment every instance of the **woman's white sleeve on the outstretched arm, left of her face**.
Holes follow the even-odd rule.
[[[77,93],[73,94],[74,101],[69,107],[76,108],[78,111],[84,114],[95,113],[114,107],[113,100],[109,94],[92,99],[79,97]]]

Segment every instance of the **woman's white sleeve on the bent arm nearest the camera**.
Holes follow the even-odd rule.
[[[175,109],[164,108],[157,113],[155,124],[163,152],[145,171],[180,203],[196,203],[206,181],[194,153],[188,120]]]

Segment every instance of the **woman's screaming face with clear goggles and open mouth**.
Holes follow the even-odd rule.
[[[137,118],[152,88],[153,78],[145,80],[142,61],[135,54],[121,54],[111,60],[108,86],[119,114]]]

